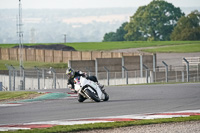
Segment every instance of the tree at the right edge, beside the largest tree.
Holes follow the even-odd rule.
[[[171,34],[171,40],[200,40],[200,12],[198,10],[179,19]]]

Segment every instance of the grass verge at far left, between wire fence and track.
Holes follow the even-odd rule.
[[[37,92],[30,92],[30,91],[2,91],[0,92],[0,102],[3,101],[12,101],[16,99],[26,99],[38,96]]]

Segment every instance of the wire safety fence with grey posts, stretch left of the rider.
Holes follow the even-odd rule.
[[[9,67],[8,75],[0,75],[0,82],[2,89],[9,91],[56,89],[66,88],[67,77],[65,73],[57,73],[53,68],[20,70]]]

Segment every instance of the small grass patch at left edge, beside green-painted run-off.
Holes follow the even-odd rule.
[[[37,92],[28,92],[28,91],[2,91],[0,92],[0,101],[1,100],[9,100],[9,99],[15,99],[15,98],[26,98],[29,95],[37,94]]]

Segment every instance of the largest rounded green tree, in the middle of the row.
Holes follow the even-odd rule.
[[[153,0],[147,6],[141,6],[125,26],[125,39],[170,40],[170,34],[178,19],[183,16],[180,8],[164,0]]]

